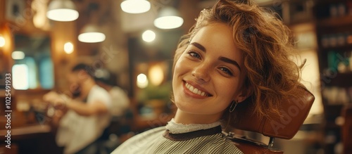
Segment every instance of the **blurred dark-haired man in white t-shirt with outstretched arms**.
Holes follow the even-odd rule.
[[[73,67],[68,80],[76,98],[54,91],[43,97],[59,109],[53,118],[59,117],[56,143],[64,147],[64,153],[95,153],[93,143],[110,124],[111,96],[96,84],[93,72],[89,65]]]

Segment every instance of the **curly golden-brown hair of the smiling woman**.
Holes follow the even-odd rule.
[[[284,103],[283,99],[302,94],[298,90],[298,86],[302,86],[299,82],[301,66],[292,60],[296,54],[291,31],[275,13],[251,1],[220,0],[213,8],[201,11],[196,24],[180,39],[174,66],[192,37],[211,23],[225,23],[232,27],[234,44],[243,52],[247,70],[244,86],[252,89],[247,101],[254,103],[253,110],[258,117],[268,117],[269,112],[279,115],[278,107]],[[229,114],[223,118],[229,120],[236,116],[224,113]]]

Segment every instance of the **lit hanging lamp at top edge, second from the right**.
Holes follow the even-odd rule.
[[[126,13],[145,13],[151,9],[151,4],[146,0],[125,0],[120,6]]]

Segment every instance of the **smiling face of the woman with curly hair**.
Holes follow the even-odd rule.
[[[242,52],[223,23],[201,28],[175,64],[172,90],[179,110],[221,116],[231,101],[244,101]]]

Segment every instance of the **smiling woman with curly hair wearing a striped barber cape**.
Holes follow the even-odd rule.
[[[283,99],[305,92],[301,68],[290,59],[293,44],[282,21],[251,1],[204,9],[175,52],[175,117],[113,153],[242,153],[222,134],[236,124],[238,103],[253,103],[253,114],[270,119]]]

